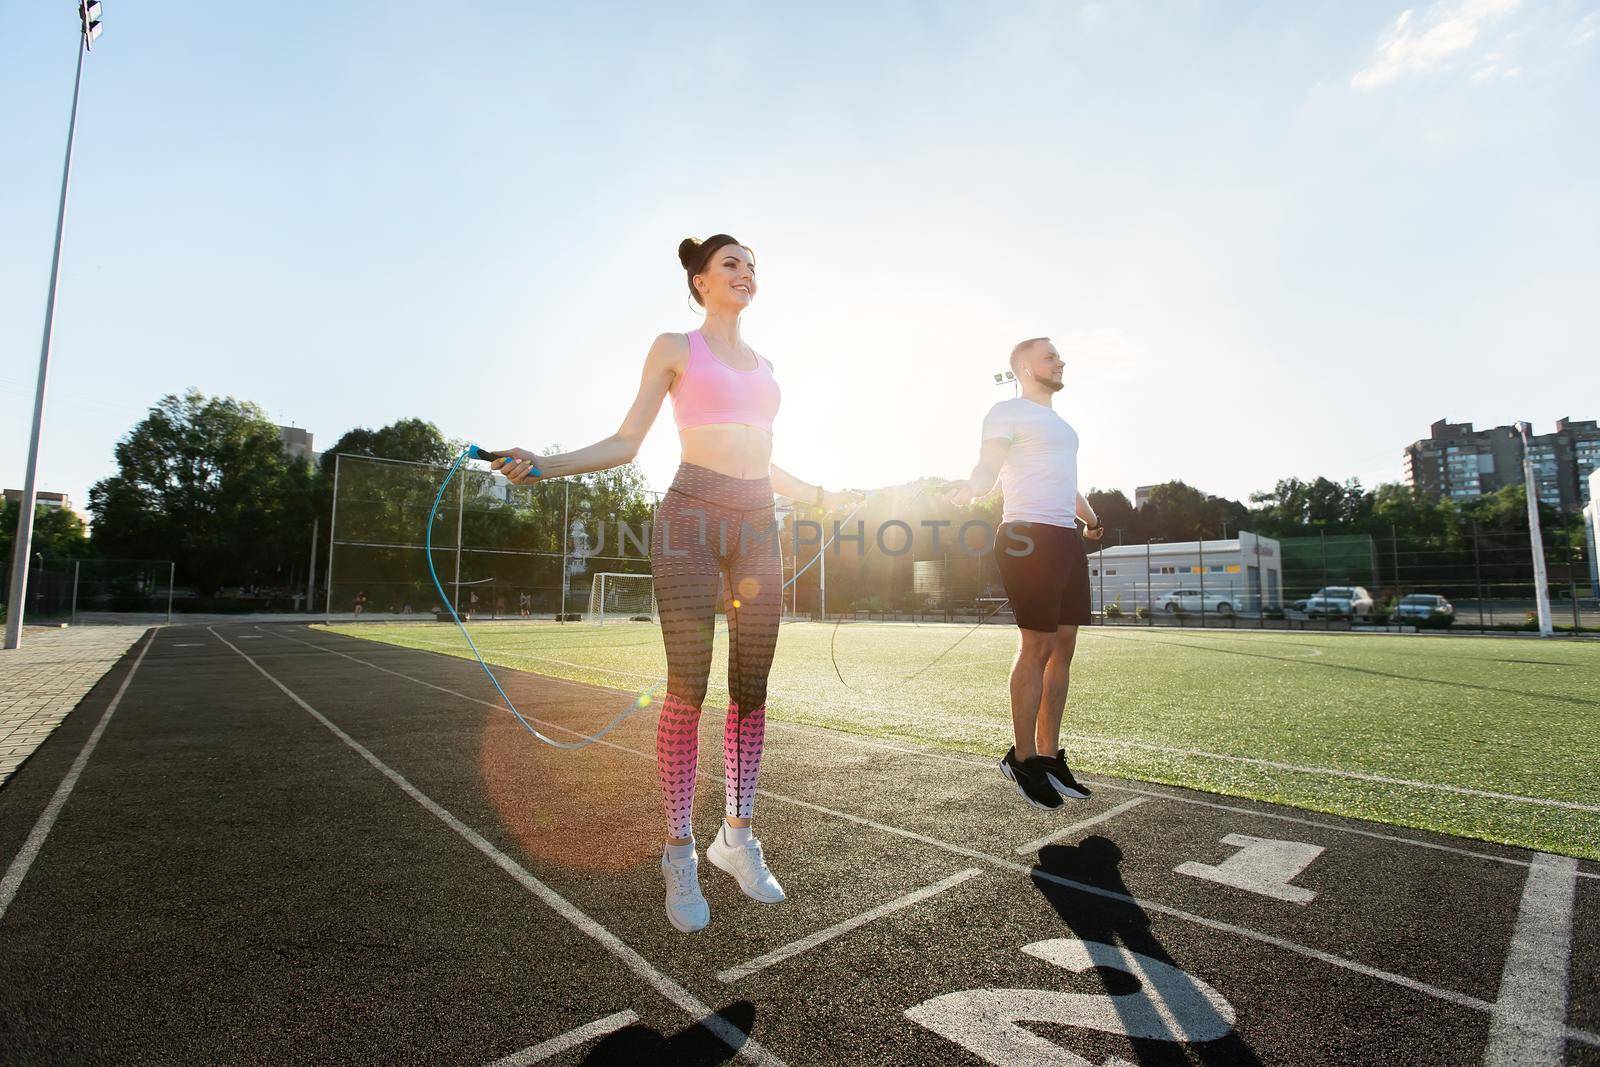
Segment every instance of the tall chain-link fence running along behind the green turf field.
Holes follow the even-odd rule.
[[[326,614],[445,613],[424,550],[445,474],[427,464],[336,459]],[[992,509],[960,510],[902,490],[875,494],[837,539],[838,517],[779,502],[786,617],[1011,621]],[[434,518],[434,566],[464,617],[581,619],[597,574],[650,574],[659,501],[630,470],[512,486],[464,467]],[[1544,553],[1557,625],[1600,629],[1584,547],[1547,542]],[[1242,531],[1090,553],[1094,619],[1117,625],[1528,629],[1533,581],[1526,531],[1461,530],[1432,539]]]

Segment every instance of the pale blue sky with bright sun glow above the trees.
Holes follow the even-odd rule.
[[[106,3],[40,488],[162,394],[318,446],[403,416],[586,445],[678,238],[763,290],[778,462],[963,475],[1010,344],[1085,485],[1398,478],[1438,418],[1600,416],[1600,0]],[[0,482],[21,485],[69,0],[0,0]],[[666,485],[670,413],[642,454]]]

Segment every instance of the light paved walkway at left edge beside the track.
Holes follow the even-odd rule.
[[[141,625],[27,627],[22,648],[0,651],[0,785],[144,633]]]

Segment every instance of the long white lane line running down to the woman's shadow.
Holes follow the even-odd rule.
[[[656,969],[654,965],[651,965],[645,957],[634,952],[634,949],[630,949],[627,942],[624,942],[621,937],[613,934],[610,929],[606,929],[595,920],[589,918],[589,915],[579,910],[576,904],[573,904],[560,893],[557,893],[550,886],[534,878],[531,873],[528,873],[528,870],[522,864],[518,864],[515,859],[494,848],[488,840],[483,838],[483,835],[480,835],[466,822],[462,822],[450,811],[442,808],[437,801],[434,801],[432,797],[429,797],[421,789],[408,782],[398,771],[395,771],[387,763],[373,755],[373,752],[365,745],[362,745],[362,742],[358,742],[355,737],[339,729],[333,723],[333,720],[330,720],[315,707],[302,701],[299,694],[294,693],[294,689],[288,688],[286,685],[274,678],[270,673],[267,673],[267,670],[261,664],[258,664],[248,653],[245,653],[238,645],[234,645],[230,640],[218,633],[213,627],[206,629],[211,630],[211,635],[216,637],[216,640],[222,641],[235,653],[243,656],[245,662],[248,662],[251,667],[261,672],[262,678],[275,685],[278,689],[283,691],[286,697],[299,704],[301,710],[304,710],[307,715],[310,715],[318,723],[326,726],[334,737],[347,744],[363,760],[371,763],[379,774],[382,774],[390,782],[398,785],[402,792],[405,792],[411,800],[419,803],[427,813],[430,813],[440,822],[443,822],[451,830],[459,833],[462,840],[472,845],[472,848],[483,853],[483,856],[486,856],[494,865],[498,865],[501,870],[504,870],[518,883],[522,883],[522,886],[530,893],[533,893],[536,897],[544,901],[544,904],[550,907],[550,910],[554,910],[557,915],[560,915],[568,923],[576,926],[581,933],[600,942],[600,945],[606,952],[621,960],[627,966],[627,969],[630,969],[634,974],[645,979],[645,982],[648,982],[650,987],[654,989],[658,993],[661,993],[669,1003],[677,1005],[685,1013],[688,1013],[691,1019],[694,1019],[702,1027],[717,1035],[728,1048],[731,1048],[738,1054],[739,1059],[752,1064],[771,1064],[773,1067],[782,1067],[782,1061],[768,1053],[760,1045],[757,1045],[755,1038],[752,1038],[744,1030],[723,1019],[715,1011],[712,1011],[710,1006],[702,1003],[699,997],[686,990],[683,985],[680,985],[667,974]]]

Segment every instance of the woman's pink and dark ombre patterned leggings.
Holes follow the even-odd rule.
[[[717,597],[728,613],[728,720],[723,766],[728,817],[755,811],[766,733],[766,675],[778,646],[782,565],[768,478],[733,478],[682,464],[656,510],[650,541],[656,608],[667,645],[667,696],[656,725],[656,766],[667,837],[690,837],[699,713],[710,678]]]

